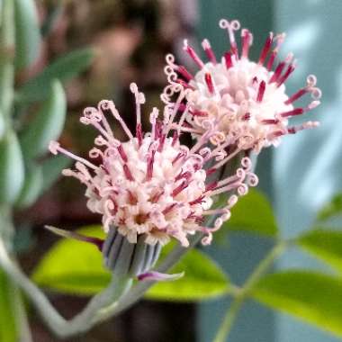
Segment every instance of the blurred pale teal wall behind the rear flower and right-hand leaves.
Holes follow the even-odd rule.
[[[323,91],[322,105],[308,115],[320,120],[318,130],[284,139],[280,148],[263,152],[258,160],[261,188],[274,202],[285,236],[307,229],[320,205],[342,190],[342,1],[340,0],[200,0],[199,38],[208,38],[217,51],[228,47],[221,17],[238,19],[254,33],[252,54],[258,55],[268,31],[286,31],[282,50],[298,58],[289,92],[315,74]],[[209,253],[240,284],[269,246],[258,238],[230,238],[229,246]],[[288,253],[277,264],[316,267],[310,258]],[[322,267],[322,266],[320,266]],[[198,340],[212,340],[229,302],[200,305]],[[342,322],[341,322],[342,324]],[[333,342],[338,341],[289,316],[248,302],[240,312],[229,342]]]

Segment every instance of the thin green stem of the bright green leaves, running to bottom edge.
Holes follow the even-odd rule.
[[[240,310],[242,304],[246,301],[249,293],[253,290],[254,285],[257,284],[263,275],[265,275],[266,271],[270,266],[272,266],[275,259],[284,252],[285,247],[286,246],[284,242],[277,243],[275,247],[273,247],[266,257],[260,262],[255,271],[247,278],[246,283],[240,289],[240,291],[238,291],[229,307],[229,310],[225,314],[214,342],[225,342],[227,340],[233,327],[233,323],[238,317],[238,311]]]

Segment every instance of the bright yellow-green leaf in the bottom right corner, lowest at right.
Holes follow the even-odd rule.
[[[266,306],[342,336],[342,279],[309,271],[267,275],[252,296]]]

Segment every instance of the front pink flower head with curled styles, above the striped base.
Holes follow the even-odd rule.
[[[230,208],[238,195],[247,193],[247,185],[257,184],[251,172],[251,163],[242,158],[234,175],[220,181],[209,181],[208,175],[220,172],[230,157],[224,148],[207,147],[214,130],[208,129],[192,148],[179,141],[178,124],[174,123],[179,103],[166,106],[164,119],[157,119],[156,108],[150,113],[151,130],[141,127],[140,106],[145,97],[135,84],[130,85],[136,101],[136,132],[132,134],[112,101],[103,100],[97,108],[86,108],[80,121],[93,125],[99,131],[95,147],[89,152],[89,161],[61,148],[56,141],[50,143],[53,154],[63,153],[76,160],[75,169],[66,169],[64,175],[76,177],[85,184],[87,206],[103,216],[103,228],[108,232],[115,227],[130,243],[141,236],[145,243],[165,245],[176,238],[184,247],[189,245],[188,234],[205,233],[203,243],[210,243],[211,233],[229,219]],[[121,124],[127,139],[116,139],[109,117]],[[173,132],[170,134],[170,132]],[[229,193],[228,202],[211,210],[212,197]],[[236,193],[236,194],[235,194]],[[202,224],[204,217],[215,215],[212,227]]]

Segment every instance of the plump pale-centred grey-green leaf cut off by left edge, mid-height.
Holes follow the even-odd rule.
[[[24,181],[23,154],[14,131],[0,141],[0,202],[13,203]]]

